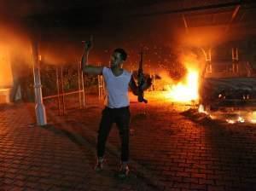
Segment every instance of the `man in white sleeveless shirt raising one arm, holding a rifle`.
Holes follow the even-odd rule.
[[[121,167],[119,177],[126,177],[129,172],[129,123],[131,118],[128,90],[130,87],[133,94],[137,96],[137,84],[131,72],[127,72],[122,68],[127,57],[124,49],[114,49],[110,59],[110,67],[95,67],[87,64],[90,47],[91,43],[86,42],[81,61],[82,70],[89,74],[103,75],[106,86],[105,108],[102,111],[102,119],[97,137],[96,171],[102,171],[108,134],[112,124],[116,123],[121,139]],[[151,78],[148,78],[143,84],[143,90],[148,89],[150,85]]]

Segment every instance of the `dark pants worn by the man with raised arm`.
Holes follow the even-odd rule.
[[[103,157],[105,145],[112,124],[116,123],[119,128],[119,136],[122,145],[121,160],[127,162],[129,159],[129,124],[130,124],[129,107],[109,108],[105,107],[102,111],[102,120],[98,130],[97,155]]]

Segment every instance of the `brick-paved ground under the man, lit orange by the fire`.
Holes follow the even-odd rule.
[[[67,110],[65,115],[61,116],[58,115],[53,101],[47,102],[49,125],[44,127],[44,132],[41,132],[42,128],[35,126],[30,128],[38,131],[37,136],[30,137],[22,133],[14,136],[16,143],[26,142],[21,144],[21,148],[28,148],[32,154],[37,154],[38,163],[35,166],[39,169],[42,169],[45,159],[40,157],[40,154],[51,153],[49,158],[47,154],[44,157],[47,158],[46,164],[54,165],[51,176],[55,175],[58,187],[50,187],[49,179],[45,181],[42,177],[35,176],[37,180],[44,180],[49,189],[61,189],[61,183],[65,184],[63,178],[73,177],[73,182],[77,182],[76,185],[80,188],[66,182],[71,184],[72,188],[67,190],[256,190],[255,124],[212,121],[196,113],[193,110],[195,106],[175,104],[152,95],[146,95],[148,104],[137,103],[135,97],[131,99],[130,177],[125,181],[119,181],[115,177],[119,164],[119,134],[115,126],[108,137],[106,170],[102,174],[96,174],[93,166],[102,101],[96,96],[85,98],[84,108],[79,108],[78,101],[67,99]],[[188,110],[189,107],[192,107],[192,110]],[[1,114],[9,114],[10,111],[19,113],[22,109],[28,110],[21,104],[19,107],[4,108]],[[5,125],[5,130],[14,129],[9,125],[15,115],[9,115],[8,118],[5,123],[1,122],[1,125]],[[32,118],[29,123],[22,123],[25,127],[33,124],[33,121]],[[19,126],[17,124],[15,127],[18,132],[26,131],[22,125]],[[2,128],[1,132],[3,130]],[[14,134],[14,131],[10,132]],[[13,137],[11,133],[9,136]],[[63,137],[58,137],[52,142],[59,134]],[[5,154],[9,154],[9,148],[16,143],[9,142],[6,145],[8,134],[0,135],[0,152],[6,159],[0,163],[1,166],[8,163],[9,158],[6,158]],[[32,145],[27,143],[27,139],[32,141]],[[18,148],[16,145],[15,149]],[[11,152],[15,155],[17,151],[12,148]],[[20,151],[22,154],[24,152],[23,149]],[[70,155],[73,158],[68,158]],[[61,165],[55,164],[58,156],[63,158]],[[47,169],[45,166],[44,169]],[[9,171],[6,168],[3,171],[2,167],[0,171]],[[63,171],[71,176],[64,176]],[[80,180],[83,178],[86,179],[86,184]],[[6,178],[4,180],[4,185],[8,185]],[[26,181],[24,182],[26,185]],[[39,187],[41,184],[36,185]]]

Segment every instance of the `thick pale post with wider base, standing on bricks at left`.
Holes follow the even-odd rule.
[[[35,89],[35,101],[36,101],[36,117],[38,125],[47,124],[45,107],[42,96],[42,85],[40,78],[40,62],[38,55],[38,42],[32,40],[32,61],[33,61],[33,74],[34,74],[34,89]]]

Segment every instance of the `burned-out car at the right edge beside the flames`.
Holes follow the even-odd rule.
[[[201,78],[200,103],[207,110],[240,109],[256,107],[256,72],[248,62],[221,63],[225,70],[205,73]],[[238,70],[238,68],[240,68]]]

